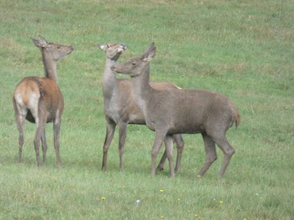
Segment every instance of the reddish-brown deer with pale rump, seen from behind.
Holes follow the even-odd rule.
[[[25,119],[36,124],[34,147],[37,166],[41,166],[39,146],[42,141],[43,164],[46,163],[47,142],[45,134],[46,123],[53,122],[54,148],[57,167],[61,167],[59,155],[59,132],[61,115],[64,109],[64,99],[57,86],[56,63],[73,52],[73,46],[48,43],[42,36],[31,38],[35,46],[40,48],[45,70],[45,77],[29,76],[21,80],[13,93],[13,107],[16,125],[19,132],[19,157],[22,163],[22,149],[24,144]]]

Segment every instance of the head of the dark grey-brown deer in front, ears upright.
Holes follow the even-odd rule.
[[[111,66],[114,73],[123,73],[125,75],[137,76],[143,73],[143,69],[148,66],[149,62],[155,56],[156,47],[154,43],[150,44],[141,57],[131,58],[122,64]]]

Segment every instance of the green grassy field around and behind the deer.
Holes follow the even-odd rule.
[[[293,11],[292,0],[1,0],[0,219],[294,219]],[[17,164],[12,93],[22,78],[44,75],[29,39],[38,35],[75,48],[57,65],[65,98],[60,170],[52,124],[47,165],[36,166],[29,122]],[[151,80],[214,90],[240,111],[240,127],[227,132],[236,153],[223,179],[217,178],[219,149],[206,175],[196,177],[205,160],[199,134],[183,135],[175,178],[168,164],[151,178],[154,132],[135,125],[128,126],[124,172],[117,131],[108,171],[101,171],[105,55],[96,45],[126,44],[123,62],[151,42],[157,46]]]

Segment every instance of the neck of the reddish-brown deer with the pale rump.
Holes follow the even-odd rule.
[[[45,48],[42,48],[42,57],[45,77],[50,78],[57,83],[56,61],[53,60]]]

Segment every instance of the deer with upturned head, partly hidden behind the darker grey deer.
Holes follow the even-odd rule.
[[[131,82],[128,79],[116,78],[110,67],[115,65],[123,51],[125,44],[98,44],[98,47],[105,52],[106,62],[102,77],[104,115],[106,119],[106,136],[103,144],[102,170],[107,169],[107,152],[114,136],[115,128],[119,127],[119,155],[120,171],[123,171],[123,149],[126,138],[127,124],[145,125],[145,118],[141,110],[134,103],[131,96]],[[150,82],[150,86],[156,89],[179,89],[171,83]],[[180,160],[184,147],[184,141],[180,134],[173,135],[177,145],[177,160],[175,172],[179,172]],[[163,170],[167,158],[166,152],[157,167],[157,172]]]

